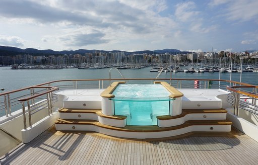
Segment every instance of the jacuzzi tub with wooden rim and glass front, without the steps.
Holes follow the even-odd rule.
[[[102,113],[124,115],[126,125],[157,125],[157,116],[175,116],[182,110],[183,94],[167,82],[156,81],[152,85],[114,82],[101,96]]]

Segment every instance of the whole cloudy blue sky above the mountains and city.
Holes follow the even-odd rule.
[[[257,0],[0,0],[0,45],[22,49],[258,50]]]

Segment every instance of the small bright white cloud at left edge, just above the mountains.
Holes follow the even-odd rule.
[[[7,46],[24,46],[24,40],[17,36],[0,35],[0,44]]]

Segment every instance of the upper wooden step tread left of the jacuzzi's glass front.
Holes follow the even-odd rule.
[[[126,119],[126,116],[122,116],[122,115],[113,115],[113,116],[104,115],[101,112],[101,109],[67,109],[67,108],[62,108],[58,112],[59,113],[94,113],[94,114],[96,114],[100,117],[109,118],[109,119],[115,119],[115,120]]]

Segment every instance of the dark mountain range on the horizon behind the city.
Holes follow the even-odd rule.
[[[27,49],[21,49],[17,47],[11,47],[11,46],[0,46],[0,56],[13,56],[17,54],[30,54],[30,55],[59,55],[59,54],[85,54],[85,53],[95,53],[95,52],[102,52],[102,53],[107,53],[107,52],[121,52],[120,50],[112,50],[112,51],[107,51],[107,50],[87,50],[87,49],[78,49],[78,50],[62,50],[62,51],[54,51],[51,49],[46,49],[46,50],[38,50],[34,48],[27,48]],[[130,55],[130,54],[162,54],[162,53],[188,53],[188,52],[181,52],[180,50],[177,49],[163,49],[163,50],[143,50],[143,51],[135,51],[135,52],[127,52],[123,51],[125,55]]]

